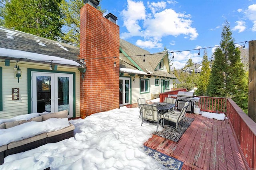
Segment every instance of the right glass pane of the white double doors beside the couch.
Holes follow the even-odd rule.
[[[58,111],[69,110],[69,77],[58,77]]]

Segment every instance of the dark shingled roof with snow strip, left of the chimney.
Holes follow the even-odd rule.
[[[81,66],[79,47],[0,26],[0,57],[37,63]]]

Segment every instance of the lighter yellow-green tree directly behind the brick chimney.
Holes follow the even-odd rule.
[[[84,0],[70,0],[64,2],[61,6],[62,13],[64,14],[64,37],[63,40],[66,43],[70,43],[75,46],[80,46],[80,9],[84,6]],[[98,6],[98,10],[104,13],[106,10],[102,10]]]

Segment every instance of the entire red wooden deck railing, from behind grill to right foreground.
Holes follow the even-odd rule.
[[[161,93],[160,102],[163,102],[168,94],[176,95],[179,91],[186,91],[186,89]],[[240,144],[244,153],[246,159],[244,161],[249,165],[248,169],[256,170],[256,123],[230,98],[197,97],[201,98],[198,104],[201,111],[225,113],[227,115],[238,139],[238,145]]]

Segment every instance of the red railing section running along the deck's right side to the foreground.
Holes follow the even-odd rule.
[[[232,99],[227,99],[226,115],[230,119],[251,170],[256,169],[256,123]]]

